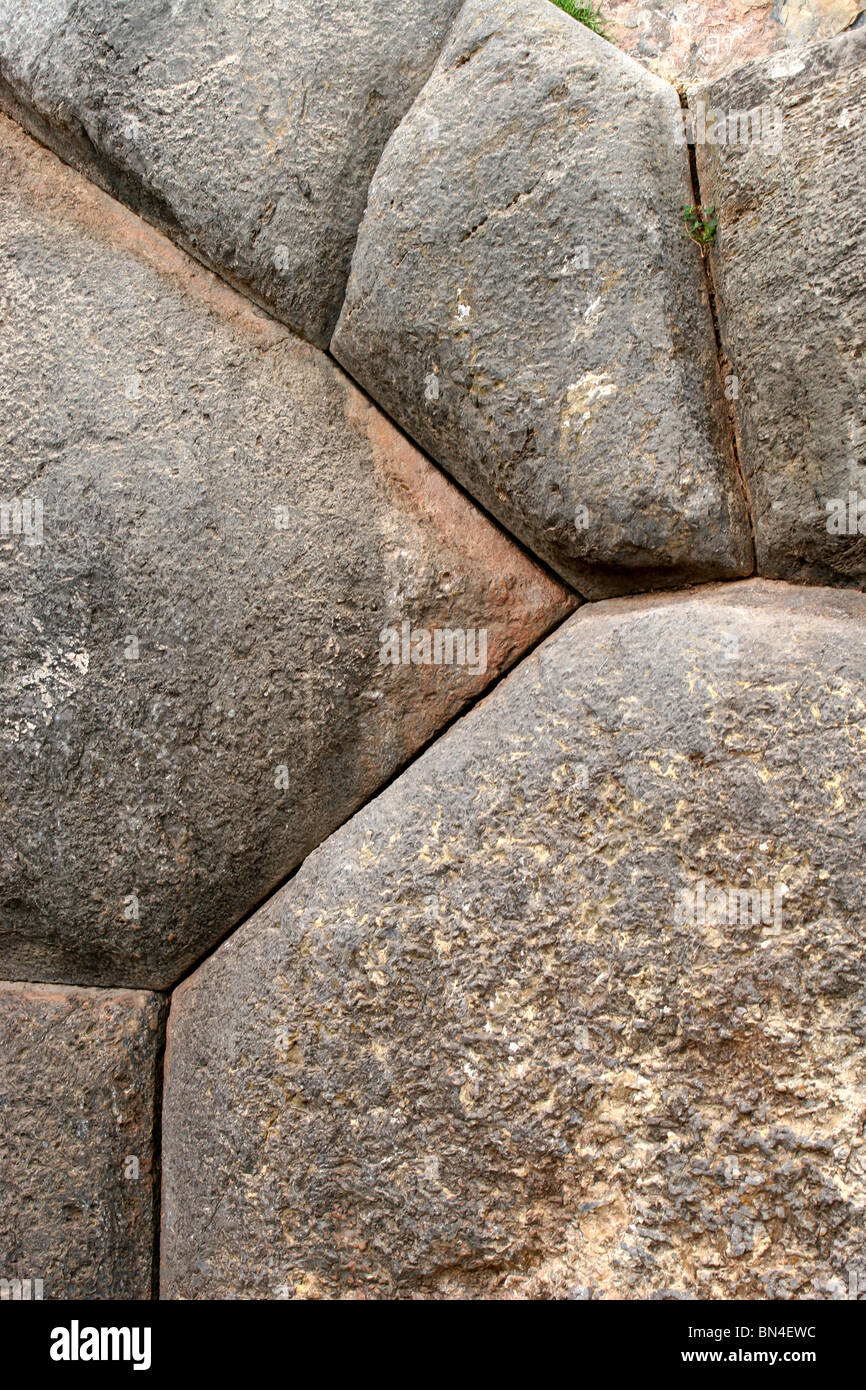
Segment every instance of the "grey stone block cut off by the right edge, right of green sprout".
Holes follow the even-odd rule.
[[[710,113],[762,107],[770,136],[696,146],[703,202],[720,214],[713,272],[740,378],[758,570],[863,588],[866,28],[745,67],[689,100],[703,103],[709,136],[720,129]]]

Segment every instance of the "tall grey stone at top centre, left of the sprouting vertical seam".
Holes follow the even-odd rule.
[[[667,83],[468,0],[359,234],[335,356],[589,598],[752,569],[689,200]]]

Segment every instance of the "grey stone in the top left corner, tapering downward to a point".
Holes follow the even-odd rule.
[[[459,0],[0,0],[0,101],[325,346]]]

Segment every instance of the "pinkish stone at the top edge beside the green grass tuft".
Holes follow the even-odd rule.
[[[860,0],[605,0],[610,36],[670,82],[713,79],[856,22]]]

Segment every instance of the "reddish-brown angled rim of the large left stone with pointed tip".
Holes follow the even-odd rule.
[[[567,617],[578,605],[578,598],[555,575],[545,573],[535,557],[520,549],[502,527],[484,516],[473,499],[461,493],[441,468],[424,459],[371,404],[339,364],[256,309],[246,296],[238,295],[220,277],[190,260],[181,247],[143,222],[136,213],[111,199],[97,185],[89,183],[85,175],[58,163],[51,150],[33,145],[31,138],[7,117],[0,115],[0,126],[8,126],[13,132],[13,147],[15,154],[21,156],[28,195],[47,208],[49,217],[68,218],[76,228],[92,231],[106,245],[128,250],[158,277],[168,279],[179,295],[229,321],[232,331],[250,346],[267,350],[285,343],[303,360],[318,360],[338,384],[341,411],[346,424],[359,435],[367,436],[371,453],[381,460],[381,482],[392,499],[395,516],[398,518],[405,516],[413,525],[420,523],[421,528],[430,527],[431,532],[438,531],[439,535],[459,537],[466,574],[471,577],[474,567],[478,567],[489,573],[491,581],[496,581],[484,594],[484,598],[489,596],[489,616],[498,614],[496,623],[491,624],[488,670],[478,677],[474,687],[467,685],[457,692],[445,691],[438,723],[431,723],[431,696],[436,698],[438,687],[428,681],[428,688],[418,691],[417,703],[403,710],[399,723],[395,721],[395,728],[402,726],[403,745],[398,748],[393,760],[385,763],[379,784],[366,788],[353,802],[343,806],[339,820],[321,837],[327,838],[374,796],[381,785],[398,776],[452,719],[481,698],[499,674],[518,662]],[[38,153],[38,158],[28,158],[31,147]],[[53,182],[53,172],[57,174],[57,186]],[[420,671],[416,667],[414,671],[417,676],[430,676],[424,667]],[[82,970],[76,979],[68,962],[56,970],[47,970],[40,960],[26,958],[10,959],[6,973],[57,983],[74,980],[83,988],[170,988],[182,974],[195,969],[217,941],[234,930],[263,897],[275,891],[278,883],[313,852],[317,842],[316,838],[309,840],[296,856],[282,859],[278,869],[260,884],[254,897],[246,898],[236,910],[227,912],[220,931],[210,935],[206,945],[179,959],[172,958],[170,967],[158,974],[118,970],[117,974],[106,973],[100,979],[95,977],[92,970]]]

